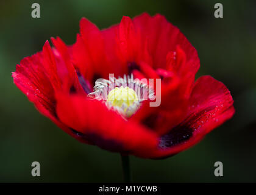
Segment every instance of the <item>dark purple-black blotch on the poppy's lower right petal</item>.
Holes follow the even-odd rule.
[[[189,140],[193,135],[193,129],[187,126],[177,126],[168,133],[160,137],[159,147],[166,149],[168,147],[176,146]]]

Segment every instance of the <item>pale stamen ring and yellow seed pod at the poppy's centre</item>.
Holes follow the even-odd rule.
[[[97,99],[105,103],[110,110],[115,110],[124,119],[129,118],[145,99],[154,96],[154,90],[145,82],[133,79],[133,76],[124,75],[123,78],[110,77],[98,79],[94,85],[94,91],[88,94],[89,98]]]

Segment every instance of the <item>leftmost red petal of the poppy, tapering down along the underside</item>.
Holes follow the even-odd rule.
[[[12,73],[13,81],[15,85],[26,94],[29,101],[34,103],[41,114],[51,119],[57,126],[63,129],[66,133],[69,133],[69,135],[87,143],[86,140],[81,140],[71,132],[69,127],[60,122],[57,113],[55,112],[56,101],[52,83],[55,84],[55,89],[60,90],[60,88],[57,87],[59,87],[61,79],[59,73],[57,73],[56,66],[63,65],[56,65],[56,62],[62,63],[63,59],[61,60],[60,56],[57,56],[59,55],[57,54],[59,51],[55,51],[54,55],[51,48],[48,46],[49,43],[47,41],[44,46],[44,54],[43,52],[38,52],[31,57],[26,57],[21,60],[20,65],[16,66],[15,73]],[[47,62],[51,64],[45,64]],[[44,67],[48,68],[48,70],[46,71]],[[53,73],[54,76],[48,76],[48,74],[51,73]],[[51,80],[52,83],[49,78],[54,79]]]

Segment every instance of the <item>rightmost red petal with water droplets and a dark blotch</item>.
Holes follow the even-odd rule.
[[[226,86],[213,77],[200,77],[194,84],[186,119],[160,138],[160,147],[152,152],[152,158],[168,157],[193,146],[234,113]]]

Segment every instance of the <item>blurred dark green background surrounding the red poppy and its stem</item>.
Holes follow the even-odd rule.
[[[38,2],[41,18],[31,17]],[[214,17],[221,2],[224,18]],[[13,84],[23,57],[59,36],[73,44],[82,16],[100,29],[148,12],[161,13],[197,49],[201,69],[224,82],[236,114],[196,146],[166,160],[131,158],[135,182],[256,182],[255,1],[0,1],[0,182],[122,182],[119,154],[87,146],[40,115]],[[39,161],[41,177],[30,174]],[[222,161],[224,177],[215,177]]]

